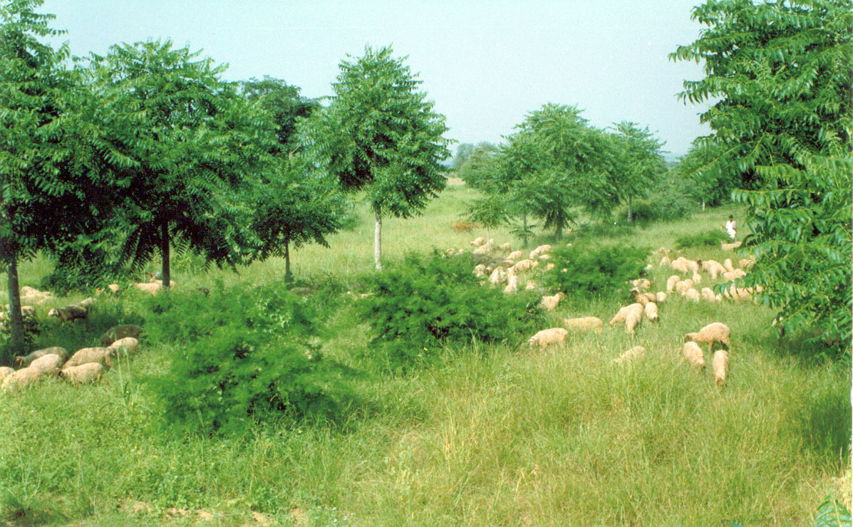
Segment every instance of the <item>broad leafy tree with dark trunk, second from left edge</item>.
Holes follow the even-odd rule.
[[[92,82],[111,120],[113,152],[130,179],[121,259],[139,267],[160,252],[163,285],[170,248],[218,265],[247,261],[253,185],[270,170],[273,125],[221,82],[209,58],[170,41],[115,45],[92,55]]]

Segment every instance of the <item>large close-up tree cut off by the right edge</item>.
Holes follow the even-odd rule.
[[[707,2],[708,26],[673,60],[705,61],[684,101],[717,99],[700,119],[748,207],[744,281],[763,287],[786,331],[818,330],[850,349],[850,71],[853,3]],[[809,331],[811,333],[811,331]]]

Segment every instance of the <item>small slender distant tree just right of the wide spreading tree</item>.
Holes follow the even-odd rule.
[[[634,196],[647,194],[658,176],[664,171],[664,142],[655,138],[648,127],[640,129],[636,123],[622,121],[615,124],[621,152],[616,157],[618,170],[612,188],[628,203],[627,222],[630,224]]]

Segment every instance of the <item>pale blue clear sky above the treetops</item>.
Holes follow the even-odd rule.
[[[704,107],[677,98],[701,65],[667,54],[692,43],[698,0],[46,0],[73,55],[171,39],[227,63],[225,80],[281,78],[332,95],[339,63],[391,45],[418,73],[458,142],[502,141],[548,102],[599,128],[648,126],[668,157],[687,152]],[[456,145],[451,147],[455,150]]]

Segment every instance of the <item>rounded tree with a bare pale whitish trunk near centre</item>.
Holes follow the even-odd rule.
[[[374,262],[381,269],[382,216],[411,217],[444,189],[440,162],[450,157],[444,116],[392,49],[365,49],[341,61],[328,108],[305,121],[312,159],[349,191],[365,190],[374,211]],[[316,119],[315,119],[316,118]]]

